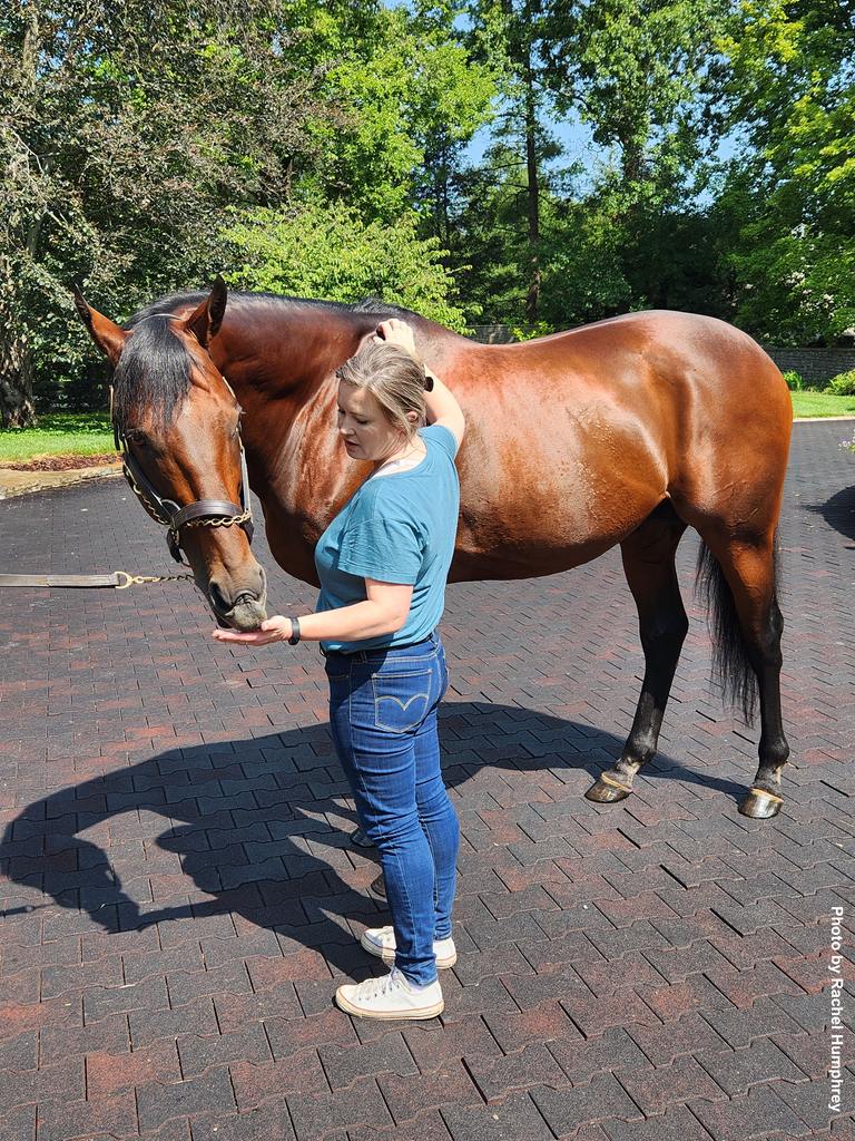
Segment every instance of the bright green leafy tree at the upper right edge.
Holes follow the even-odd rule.
[[[723,204],[736,321],[776,343],[855,325],[855,26],[845,0],[744,0],[720,75],[743,146]]]

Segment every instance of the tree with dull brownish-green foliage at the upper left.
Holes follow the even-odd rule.
[[[227,202],[287,192],[321,114],[286,0],[13,0],[0,16],[0,422],[80,370],[78,280],[109,311],[205,280]],[[327,115],[328,110],[324,111]]]

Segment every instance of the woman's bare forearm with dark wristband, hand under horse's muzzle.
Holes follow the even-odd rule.
[[[409,584],[365,580],[364,602],[340,606],[319,614],[300,614],[301,641],[361,641],[381,634],[397,633],[407,622],[413,588]],[[291,620],[275,614],[261,623],[258,630],[241,633],[237,630],[214,630],[217,641],[242,642],[245,646],[269,646],[271,642],[287,641],[291,637]]]

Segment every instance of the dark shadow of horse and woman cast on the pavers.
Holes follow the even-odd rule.
[[[487,764],[585,771],[593,782],[622,747],[591,725],[479,702],[441,709],[440,741],[449,790]],[[665,754],[645,775],[743,792]],[[465,791],[456,799],[464,812],[483,807],[478,795],[472,801]],[[331,969],[367,974],[376,964],[348,920],[372,925],[385,912],[365,890],[375,857],[351,844],[349,803],[326,726],[158,753],[34,801],[8,824],[0,867],[21,890],[17,899],[14,888],[0,897],[0,917],[49,907],[21,901],[33,889],[108,933],[237,914],[276,932],[280,945],[323,948]],[[154,841],[152,815],[165,822]],[[98,843],[107,834],[109,853]]]

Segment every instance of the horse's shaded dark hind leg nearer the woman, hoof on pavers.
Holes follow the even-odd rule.
[[[638,769],[657,751],[665,706],[689,631],[674,565],[685,528],[685,523],[666,501],[620,547],[624,573],[638,609],[644,681],[620,759],[585,793],[588,800],[600,804],[611,804],[628,796]]]

